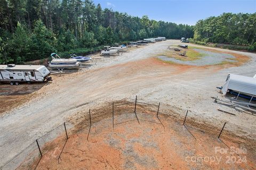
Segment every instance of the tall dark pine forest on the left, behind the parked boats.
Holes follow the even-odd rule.
[[[149,20],[91,0],[0,0],[0,63],[22,63],[53,52],[88,52],[127,40],[193,37],[193,27]],[[76,50],[77,49],[77,50]],[[6,56],[4,58],[4,56]]]

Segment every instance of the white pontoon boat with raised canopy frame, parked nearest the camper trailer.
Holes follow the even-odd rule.
[[[52,53],[52,61],[49,63],[49,67],[56,69],[69,69],[76,68],[81,65],[81,62],[77,62],[75,58],[60,58],[58,54]],[[58,57],[58,58],[57,58]]]

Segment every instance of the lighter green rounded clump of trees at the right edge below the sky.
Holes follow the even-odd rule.
[[[205,43],[244,45],[256,50],[256,13],[223,13],[199,20],[194,33],[195,40]]]

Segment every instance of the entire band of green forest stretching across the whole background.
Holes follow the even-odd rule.
[[[256,16],[225,13],[195,26],[150,20],[91,0],[0,0],[0,63],[20,64],[51,53],[86,55],[103,45],[143,38],[193,38],[195,43],[227,43],[256,50]]]

